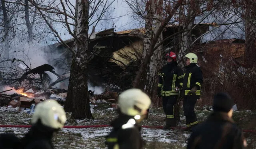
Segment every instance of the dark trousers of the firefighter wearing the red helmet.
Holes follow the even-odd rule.
[[[178,96],[163,96],[162,97],[162,104],[164,113],[166,114],[166,118],[174,118],[174,104],[177,102]]]

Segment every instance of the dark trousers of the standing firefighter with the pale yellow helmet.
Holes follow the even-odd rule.
[[[188,127],[198,124],[194,110],[197,99],[198,96],[190,95],[185,96],[183,100],[183,112],[186,116],[186,125]]]

